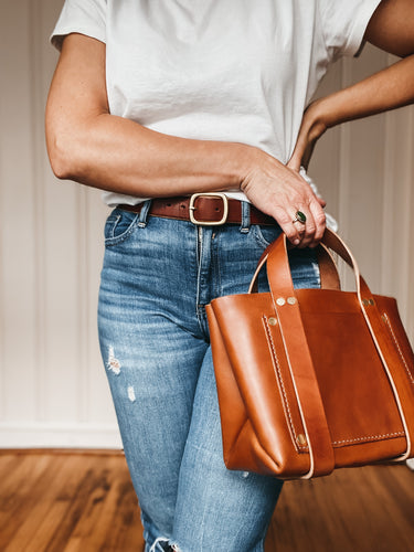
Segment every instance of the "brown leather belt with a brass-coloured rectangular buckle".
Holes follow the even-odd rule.
[[[140,213],[142,204],[120,204],[119,209]],[[251,224],[274,226],[275,219],[250,205]],[[203,226],[242,223],[242,202],[229,199],[224,193],[193,193],[191,198],[157,198],[151,200],[148,214],[163,219],[191,221]]]

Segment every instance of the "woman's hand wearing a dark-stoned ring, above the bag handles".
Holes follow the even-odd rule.
[[[255,150],[254,167],[241,184],[261,211],[273,216],[288,240],[298,247],[316,247],[326,226],[325,201],[317,198],[297,171],[267,153]],[[306,222],[295,221],[300,211]]]

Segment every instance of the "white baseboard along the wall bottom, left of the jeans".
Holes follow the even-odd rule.
[[[116,425],[0,423],[0,448],[123,448]]]

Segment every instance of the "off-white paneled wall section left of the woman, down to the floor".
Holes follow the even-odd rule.
[[[0,446],[120,446],[96,331],[107,209],[44,147],[63,2],[0,1]]]

